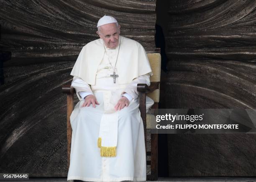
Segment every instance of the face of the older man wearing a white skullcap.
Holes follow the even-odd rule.
[[[108,48],[115,48],[119,43],[120,25],[116,23],[108,23],[100,26],[100,31],[97,34],[104,41]]]

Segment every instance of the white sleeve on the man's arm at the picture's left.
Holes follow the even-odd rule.
[[[90,85],[79,77],[73,77],[71,86],[76,90],[79,100],[83,100],[87,95],[93,95]]]

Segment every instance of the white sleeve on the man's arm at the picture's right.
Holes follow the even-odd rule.
[[[129,85],[127,85],[124,92],[127,93],[129,96],[131,96],[133,99],[137,99],[138,98],[137,84],[146,83],[149,86],[150,85],[149,77],[150,77],[150,73],[147,73],[145,75],[141,75],[135,78]]]

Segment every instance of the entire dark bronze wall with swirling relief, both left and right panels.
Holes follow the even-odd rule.
[[[157,2],[169,7],[161,17],[169,59],[161,106],[255,108],[256,1]],[[0,0],[1,58],[12,53],[0,86],[0,172],[67,175],[61,85],[72,79],[79,51],[97,38],[97,20],[105,14],[118,19],[122,35],[151,51],[155,4]],[[168,135],[169,176],[256,176],[255,143],[255,135]]]

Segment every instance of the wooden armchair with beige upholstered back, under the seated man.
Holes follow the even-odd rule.
[[[157,52],[160,52],[159,49],[156,50]],[[154,124],[151,124],[153,122],[156,122],[155,117],[150,114],[146,114],[146,95],[148,97],[151,97],[152,100],[154,100],[154,105],[151,108],[158,108],[159,103],[159,87],[160,87],[160,73],[161,73],[161,55],[159,53],[148,53],[148,60],[151,65],[151,69],[153,72],[153,76],[150,78],[151,85],[148,87],[146,84],[138,84],[137,90],[139,92],[139,109],[141,112],[141,118],[143,120],[144,125],[144,138],[145,138],[145,145],[146,142],[146,136],[147,131],[146,129],[150,129],[151,126],[154,126]],[[74,109],[74,93],[75,90],[71,85],[63,85],[62,86],[62,92],[67,94],[67,160],[68,160],[68,169],[69,169],[69,160],[70,160],[70,150],[71,150],[71,140],[72,140],[72,128],[70,125],[70,115]],[[146,146],[147,149],[147,146]],[[151,161],[147,160],[147,165],[151,165],[151,175],[147,176],[147,180],[157,180],[157,158],[158,158],[158,135],[157,134],[151,134],[151,151],[146,152],[146,155],[151,156]]]

